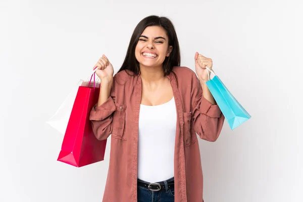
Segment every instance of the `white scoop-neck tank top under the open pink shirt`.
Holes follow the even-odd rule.
[[[157,106],[140,105],[138,178],[159,182],[174,177],[177,112],[174,97]]]

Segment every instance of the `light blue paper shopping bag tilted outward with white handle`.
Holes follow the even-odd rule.
[[[213,97],[215,98],[217,105],[219,106],[222,114],[226,118],[231,130],[235,129],[237,126],[241,125],[248,119],[250,115],[246,110],[239,104],[239,102],[234,98],[234,96],[229,92],[224,83],[220,78],[206,67],[208,71],[212,72],[215,77],[206,82],[206,85],[210,89]],[[209,72],[208,72],[209,73]]]

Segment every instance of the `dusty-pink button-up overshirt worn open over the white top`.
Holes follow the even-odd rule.
[[[128,71],[128,70],[126,70]],[[114,76],[110,97],[90,112],[95,136],[111,136],[111,154],[104,202],[137,201],[138,122],[141,103],[141,77],[125,70]],[[167,75],[177,110],[174,150],[176,202],[203,201],[203,174],[196,133],[216,141],[224,122],[217,105],[202,95],[196,74],[187,67],[174,67]],[[153,148],[150,148],[153,149]],[[161,172],[161,165],[156,166]]]

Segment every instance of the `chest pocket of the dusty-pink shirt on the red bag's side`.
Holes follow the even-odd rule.
[[[126,138],[123,138],[124,125],[125,125],[125,110],[126,110],[126,105],[116,103],[116,111],[114,112],[114,117],[113,117],[112,136],[122,140],[126,140]]]

